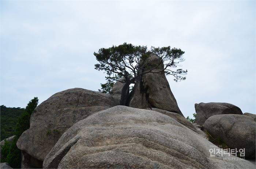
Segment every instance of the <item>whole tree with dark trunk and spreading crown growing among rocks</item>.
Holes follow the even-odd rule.
[[[95,64],[95,69],[104,70],[107,74],[106,84],[101,84],[105,93],[110,92],[113,82],[119,81],[120,78],[125,78],[125,84],[121,92],[121,105],[127,105],[129,98],[129,85],[135,84],[141,79],[145,73],[160,73],[165,72],[165,75],[174,76],[174,81],[185,80],[184,75],[187,70],[176,69],[180,66],[179,63],[184,61],[183,54],[185,52],[181,49],[167,47],[151,47],[134,46],[130,43],[123,43],[123,45],[112,46],[109,48],[101,48],[98,53],[94,55],[99,61]],[[147,63],[146,59],[151,55],[156,54],[161,58],[161,63]],[[158,70],[163,64],[163,69]],[[154,71],[157,70],[157,71]]]

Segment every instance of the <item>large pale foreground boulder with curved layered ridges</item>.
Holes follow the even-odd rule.
[[[43,167],[255,168],[248,161],[210,157],[211,148],[219,149],[169,116],[119,105],[69,128]]]

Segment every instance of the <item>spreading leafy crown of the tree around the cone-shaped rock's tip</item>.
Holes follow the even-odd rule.
[[[185,80],[187,70],[177,69],[177,65],[184,61],[181,49],[168,47],[151,47],[147,46],[134,46],[132,44],[124,43],[119,46],[112,46],[109,48],[101,48],[98,53],[94,55],[100,64],[95,64],[95,69],[104,70],[107,73],[107,79],[118,80],[120,77],[131,79],[138,76],[138,68],[141,68],[143,61],[149,57],[151,53],[157,54],[164,64],[164,71],[166,75],[173,75],[176,80]],[[153,66],[155,68],[155,66]],[[152,69],[151,69],[152,71]],[[146,73],[146,72],[145,72]],[[132,81],[134,83],[134,81]]]

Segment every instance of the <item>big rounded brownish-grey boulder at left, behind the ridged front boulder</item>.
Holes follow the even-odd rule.
[[[115,105],[117,103],[112,96],[82,88],[56,93],[35,108],[30,128],[20,136],[17,146],[43,161],[61,135],[74,123]]]

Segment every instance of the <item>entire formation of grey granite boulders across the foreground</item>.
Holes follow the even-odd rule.
[[[157,55],[147,62],[162,69]],[[129,106],[119,105],[124,83],[116,82],[110,94],[68,89],[38,105],[17,142],[22,168],[255,168],[256,115],[228,103],[199,103],[191,123],[163,72],[143,74]],[[210,149],[223,149],[206,133],[230,149],[245,149],[245,159],[212,156]]]

